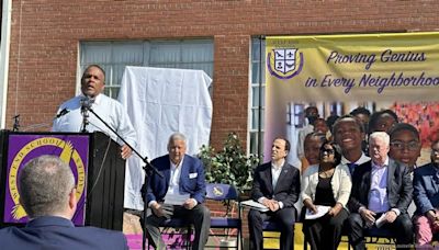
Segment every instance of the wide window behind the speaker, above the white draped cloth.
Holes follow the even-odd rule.
[[[213,41],[82,42],[81,72],[89,65],[105,70],[106,95],[116,99],[125,66],[201,69],[213,77]]]

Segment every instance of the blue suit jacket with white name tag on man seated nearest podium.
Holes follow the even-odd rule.
[[[150,175],[146,193],[147,203],[151,201],[164,201],[171,178],[169,155],[154,159],[151,164],[155,166],[165,178],[160,178],[156,173]],[[203,203],[206,192],[203,163],[194,157],[184,155],[183,164],[180,168],[180,193],[190,194],[190,197],[195,198],[199,204]]]

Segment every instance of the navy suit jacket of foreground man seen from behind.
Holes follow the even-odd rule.
[[[128,249],[121,231],[95,227],[75,227],[61,217],[42,216],[23,228],[7,227],[0,230],[0,248],[41,250],[119,250]]]

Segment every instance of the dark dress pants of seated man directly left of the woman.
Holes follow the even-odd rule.
[[[259,212],[250,209],[248,213],[248,228],[250,232],[250,243],[256,250],[263,249],[262,225],[266,220],[273,220],[280,226],[281,238],[280,249],[294,249],[294,223],[296,211],[294,207],[278,209],[277,212]]]

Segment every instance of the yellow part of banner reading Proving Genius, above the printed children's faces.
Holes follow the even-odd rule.
[[[326,118],[359,105],[435,102],[439,33],[267,37],[266,82],[266,145],[279,135],[295,139],[300,104],[319,105]]]

